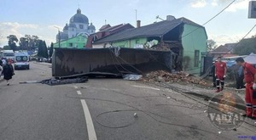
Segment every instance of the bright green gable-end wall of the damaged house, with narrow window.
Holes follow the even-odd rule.
[[[201,53],[207,52],[207,33],[205,29],[185,24],[183,26],[182,45],[183,69],[190,74],[200,75],[202,66]],[[195,50],[199,50],[198,66],[195,66]]]

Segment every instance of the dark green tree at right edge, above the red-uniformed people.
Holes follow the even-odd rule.
[[[250,53],[256,53],[256,38],[247,38],[241,40],[237,47],[234,48],[234,53],[238,55],[248,55]]]

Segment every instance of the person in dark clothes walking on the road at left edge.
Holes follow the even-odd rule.
[[[6,80],[7,85],[9,86],[9,80],[15,75],[14,67],[12,65],[12,60],[9,59],[8,63],[3,66],[3,79]]]

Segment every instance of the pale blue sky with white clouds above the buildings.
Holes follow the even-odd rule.
[[[136,26],[149,25],[156,16],[166,19],[166,15],[185,17],[203,25],[218,14],[233,0],[0,0],[0,48],[8,44],[7,36],[39,36],[49,45],[55,42],[58,30],[69,22],[80,8],[96,30],[105,25],[130,23]],[[256,24],[248,19],[249,0],[236,0],[230,8],[204,25],[208,39],[224,43],[238,42]],[[249,36],[256,34],[256,29]]]

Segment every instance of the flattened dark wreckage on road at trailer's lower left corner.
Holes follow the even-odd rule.
[[[47,79],[43,81],[20,81],[20,84],[30,84],[30,83],[42,83],[49,86],[56,86],[56,85],[65,85],[65,84],[72,84],[72,83],[83,83],[88,81],[87,77],[78,77],[72,79]]]

